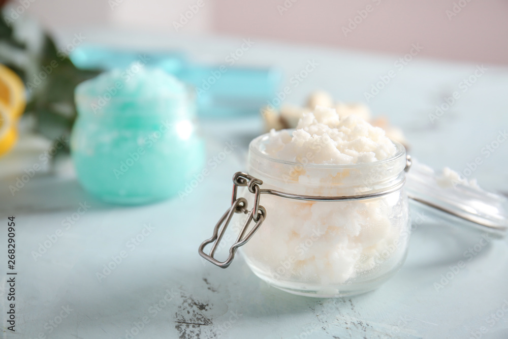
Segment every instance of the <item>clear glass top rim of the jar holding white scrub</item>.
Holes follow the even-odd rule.
[[[295,129],[285,129],[285,130],[281,130],[281,131],[288,131],[291,134],[293,131],[295,131]],[[280,132],[280,131],[278,131],[278,132]],[[282,160],[279,158],[275,158],[275,157],[267,155],[265,152],[263,152],[260,149],[260,145],[262,144],[263,141],[268,139],[269,135],[270,135],[270,133],[265,133],[265,134],[262,134],[256,138],[252,139],[249,143],[249,151],[252,152],[253,154],[255,154],[257,157],[261,157],[261,158],[264,158],[268,161],[276,162],[276,163],[283,164],[283,165],[289,165],[289,166],[304,166],[305,168],[313,168],[313,169],[342,169],[342,168],[354,169],[354,168],[361,168],[361,167],[366,167],[366,166],[383,165],[386,163],[394,162],[400,158],[405,159],[405,157],[406,157],[406,148],[404,147],[404,145],[402,145],[401,143],[399,143],[397,141],[390,139],[390,141],[397,148],[397,152],[395,153],[395,155],[393,155],[392,157],[387,158],[387,159],[378,160],[378,161],[374,161],[374,162],[370,162],[370,163],[357,163],[357,164],[313,164],[310,162],[303,164],[303,163],[299,163],[299,162],[295,162],[295,161]]]

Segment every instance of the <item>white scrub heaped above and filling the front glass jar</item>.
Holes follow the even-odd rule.
[[[247,263],[262,279],[297,294],[340,296],[377,287],[405,258],[404,167],[403,146],[382,129],[319,106],[295,131],[253,140],[249,174],[263,180],[264,189],[323,197],[399,189],[354,201],[262,195],[267,218],[242,248]],[[252,206],[251,195],[244,196]]]

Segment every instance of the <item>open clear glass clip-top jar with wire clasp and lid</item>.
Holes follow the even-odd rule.
[[[408,196],[418,204],[414,208],[423,206],[429,216],[459,227],[496,237],[508,229],[506,198],[462,184],[442,187],[442,175],[418,163],[412,169],[399,143],[383,161],[321,165],[312,164],[319,149],[298,162],[274,158],[266,152],[268,140],[266,134],[251,141],[248,174],[234,175],[231,207],[199,247],[219,267],[228,267],[243,246],[247,265],[270,285],[298,295],[342,297],[379,287],[404,263]],[[238,236],[219,261],[235,213],[246,218],[243,227],[232,227]]]

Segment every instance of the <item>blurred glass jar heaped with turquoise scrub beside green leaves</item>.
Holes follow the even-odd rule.
[[[183,83],[138,63],[76,87],[71,154],[82,186],[144,204],[176,195],[204,166],[195,107]]]

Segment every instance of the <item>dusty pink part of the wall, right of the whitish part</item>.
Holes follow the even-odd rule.
[[[396,54],[418,42],[422,56],[508,64],[508,2],[469,1],[462,0],[467,5],[449,20],[446,11],[458,0],[298,0],[282,15],[277,5],[284,0],[218,0],[214,28]],[[372,11],[345,37],[342,26],[367,5]]]

